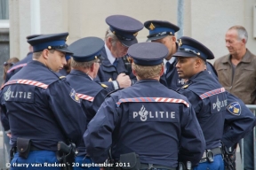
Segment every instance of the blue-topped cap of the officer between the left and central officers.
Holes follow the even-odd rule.
[[[104,47],[104,41],[98,37],[85,37],[71,43],[68,50],[73,51],[73,59],[78,62],[88,62],[93,59],[103,59],[100,51]]]

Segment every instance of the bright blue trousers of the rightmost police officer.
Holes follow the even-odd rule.
[[[221,155],[215,155],[212,163],[206,161],[194,167],[193,170],[224,170],[224,162]]]

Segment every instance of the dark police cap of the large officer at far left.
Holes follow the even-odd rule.
[[[28,43],[33,46],[33,51],[38,52],[44,49],[48,50],[60,50],[72,54],[68,50],[65,42],[67,41],[68,33],[51,34],[51,35],[40,35],[36,38],[28,39]]]

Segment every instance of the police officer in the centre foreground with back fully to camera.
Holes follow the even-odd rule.
[[[158,42],[129,48],[138,81],[110,94],[89,123],[84,143],[93,161],[104,162],[111,147],[116,162],[128,159],[126,166],[139,169],[174,170],[178,158],[193,165],[199,162],[205,141],[196,114],[186,97],[159,82],[167,54]],[[136,155],[140,166],[131,161]]]

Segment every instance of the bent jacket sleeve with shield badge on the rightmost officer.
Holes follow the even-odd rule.
[[[231,147],[248,135],[256,125],[256,117],[238,97],[228,93],[228,106],[225,114],[224,135],[221,141]]]

